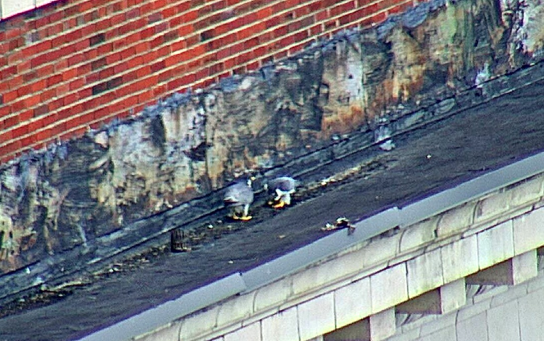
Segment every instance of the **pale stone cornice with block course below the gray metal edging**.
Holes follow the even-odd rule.
[[[516,288],[538,276],[543,199],[540,173],[135,339],[405,340],[404,332],[425,321],[410,323],[419,315],[455,314],[467,296],[485,292],[482,288]],[[528,294],[528,286],[533,292],[535,285],[516,288],[517,297]],[[531,326],[539,319],[529,316],[520,323]]]

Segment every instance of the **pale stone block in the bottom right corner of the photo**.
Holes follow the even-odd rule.
[[[544,289],[518,299],[522,340],[544,341]]]

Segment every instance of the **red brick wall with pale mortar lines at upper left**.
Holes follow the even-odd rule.
[[[0,160],[417,0],[69,0],[0,22]]]

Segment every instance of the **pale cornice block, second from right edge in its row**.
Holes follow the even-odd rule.
[[[488,268],[514,256],[512,221],[508,220],[482,231],[478,237],[478,264]]]

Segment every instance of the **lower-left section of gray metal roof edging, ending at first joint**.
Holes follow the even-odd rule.
[[[80,339],[81,341],[128,340],[156,330],[202,308],[242,292],[245,284],[240,274],[221,278],[175,300],[141,312]]]

